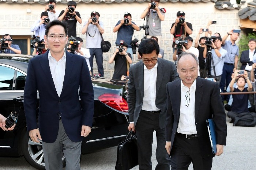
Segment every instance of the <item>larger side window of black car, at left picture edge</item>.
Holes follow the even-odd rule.
[[[12,90],[14,69],[0,66],[0,90]]]

